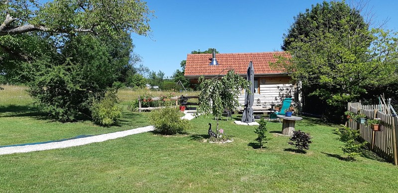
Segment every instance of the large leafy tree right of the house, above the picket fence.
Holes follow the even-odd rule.
[[[325,102],[324,113],[331,118],[365,93],[366,86],[395,76],[396,43],[389,31],[369,29],[360,10],[344,1],[324,1],[295,17],[282,46],[294,57],[282,63],[302,81],[307,98]]]

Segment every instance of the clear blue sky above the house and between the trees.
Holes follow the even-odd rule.
[[[132,35],[134,52],[150,70],[171,76],[187,54],[280,51],[294,16],[322,0],[146,0],[157,18],[151,37]],[[366,1],[366,0],[365,0]],[[369,0],[373,21],[398,30],[398,0]]]

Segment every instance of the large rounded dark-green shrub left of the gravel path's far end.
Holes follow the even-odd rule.
[[[62,57],[30,64],[35,71],[29,93],[53,119],[68,122],[91,115],[93,98],[100,99],[112,86],[119,66],[112,64],[105,42],[77,36],[65,43]]]

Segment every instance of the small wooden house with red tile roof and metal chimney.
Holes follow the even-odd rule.
[[[278,60],[277,56],[291,58],[286,52],[188,54],[185,76],[196,84],[200,76],[211,78],[218,74],[224,75],[227,72],[225,69],[233,68],[236,73],[246,77],[247,67],[252,61],[255,86],[253,106],[268,109],[271,105],[281,104],[284,98],[294,98],[293,104],[300,107],[300,84],[293,82],[288,72],[270,66],[270,63]],[[244,97],[242,91],[239,96],[239,103],[242,105]]]

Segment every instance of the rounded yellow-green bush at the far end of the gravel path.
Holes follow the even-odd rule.
[[[155,131],[161,134],[185,133],[191,128],[188,120],[181,119],[181,113],[177,108],[165,107],[151,112],[149,117]]]

